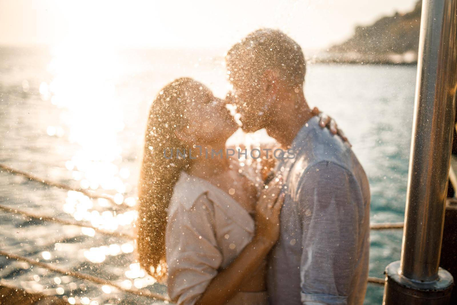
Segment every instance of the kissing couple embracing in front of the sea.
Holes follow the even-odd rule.
[[[362,304],[368,179],[335,121],[308,106],[301,47],[260,29],[228,51],[226,66],[225,100],[179,78],[150,108],[139,262],[179,305]],[[267,149],[283,154],[227,154],[238,128],[227,104],[244,131],[265,128],[277,141]],[[197,146],[210,153],[189,158]]]

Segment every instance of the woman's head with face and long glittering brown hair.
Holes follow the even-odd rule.
[[[190,78],[166,85],[151,105],[138,186],[137,251],[142,267],[155,278],[166,274],[165,228],[173,187],[192,161],[165,158],[164,151],[223,145],[236,128],[223,101]]]

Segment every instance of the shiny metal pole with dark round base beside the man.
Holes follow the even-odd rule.
[[[447,304],[439,268],[455,115],[457,0],[424,0],[400,262],[386,268],[384,304]],[[419,298],[420,297],[420,298]]]

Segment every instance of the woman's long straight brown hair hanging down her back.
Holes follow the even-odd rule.
[[[179,78],[166,85],[149,110],[144,139],[143,163],[138,185],[137,252],[141,266],[157,280],[166,277],[165,228],[173,187],[181,171],[189,166],[188,158],[164,157],[170,149],[184,151],[176,137],[187,122],[186,96],[191,78]]]

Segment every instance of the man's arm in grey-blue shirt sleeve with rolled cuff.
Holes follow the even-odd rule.
[[[301,300],[306,305],[347,304],[363,221],[360,187],[344,168],[313,166],[298,189],[302,216]]]

